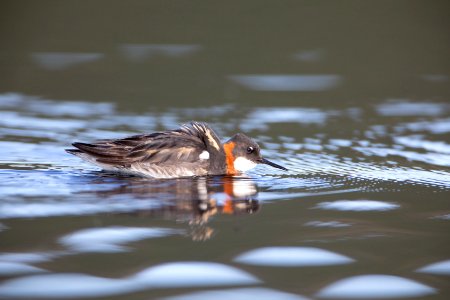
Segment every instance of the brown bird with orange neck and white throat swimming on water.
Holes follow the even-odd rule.
[[[258,164],[288,171],[261,155],[250,137],[237,133],[221,143],[204,122],[178,129],[133,135],[122,139],[75,142],[66,152],[105,171],[151,178],[240,175]]]

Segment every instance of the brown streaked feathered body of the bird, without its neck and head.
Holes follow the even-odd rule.
[[[220,140],[205,123],[73,146],[76,149],[66,151],[104,170],[146,177],[203,176],[225,168]]]

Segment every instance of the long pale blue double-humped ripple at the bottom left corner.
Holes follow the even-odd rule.
[[[86,274],[45,274],[0,284],[0,297],[75,298],[120,295],[145,289],[239,286],[261,281],[242,270],[219,263],[176,262],[150,267],[135,275],[111,279]]]

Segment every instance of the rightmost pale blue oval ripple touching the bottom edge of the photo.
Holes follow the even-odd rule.
[[[386,299],[435,294],[436,289],[391,275],[360,275],[345,278],[319,291],[319,298]]]

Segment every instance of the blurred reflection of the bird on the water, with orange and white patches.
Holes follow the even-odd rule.
[[[114,188],[96,191],[102,199],[142,199],[150,205],[134,210],[145,217],[164,217],[189,224],[193,240],[207,240],[214,229],[207,224],[218,214],[252,214],[259,210],[257,186],[250,178],[215,176],[181,179],[112,178]],[[105,184],[105,181],[102,181]],[[109,186],[109,185],[108,185]]]

